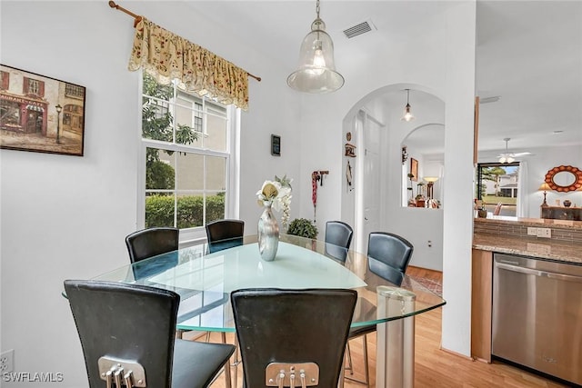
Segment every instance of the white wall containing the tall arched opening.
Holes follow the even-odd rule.
[[[339,209],[342,204],[332,194],[343,193],[343,178],[340,176],[344,164],[343,136],[347,128],[351,128],[350,122],[365,97],[376,93],[379,87],[404,83],[422,85],[445,101],[445,168],[447,176],[455,179],[445,177],[443,180],[444,199],[448,204],[443,210],[443,228],[440,229],[439,221],[436,221],[431,232],[436,240],[441,230],[443,234],[444,295],[447,300],[443,314],[443,347],[465,355],[470,354],[475,8],[475,1],[455,3],[443,14],[436,15],[433,24],[426,25],[428,33],[423,35],[417,31],[419,37],[413,42],[386,44],[378,51],[376,60],[368,58],[365,77],[352,82],[346,78],[346,85],[332,95],[303,96],[301,125],[302,151],[313,155],[302,162],[302,190],[307,191],[305,185],[312,170],[323,169],[324,165],[334,166],[330,170],[330,179],[326,181],[326,194],[318,195],[317,225],[321,230],[327,219],[349,211]],[[416,60],[418,58],[429,60]],[[426,66],[428,63],[430,66]],[[346,64],[346,72],[349,73],[350,66],[357,68],[359,65],[355,58],[353,63]],[[337,113],[346,113],[344,120],[340,120]],[[388,143],[390,148],[386,149],[386,158],[396,165],[400,163],[401,139]],[[326,147],[322,148],[322,144]],[[396,200],[400,197],[400,171],[389,171],[386,178],[388,183],[396,183],[396,191],[388,190],[387,198]],[[349,204],[350,201],[344,202],[344,205]],[[301,197],[301,209],[302,214],[309,215],[304,209],[313,209],[310,197]],[[438,217],[437,213],[434,215]],[[406,225],[412,223],[411,218],[407,217]],[[420,217],[415,221],[417,224]],[[412,234],[411,230],[405,232]],[[419,244],[424,245],[426,241],[420,240]]]

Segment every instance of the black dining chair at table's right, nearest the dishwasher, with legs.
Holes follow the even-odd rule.
[[[414,246],[397,234],[372,232],[368,236],[367,242],[368,269],[371,273],[380,276],[391,284],[400,286],[405,278],[406,268],[410,263],[413,251]],[[365,380],[356,380],[356,382],[365,383],[368,388],[370,386],[370,376],[367,359],[367,334],[374,332],[376,332],[376,324],[359,326],[350,330],[349,333],[350,340],[363,336],[362,350]],[[353,373],[351,363],[348,369]],[[353,378],[349,379],[355,380]]]

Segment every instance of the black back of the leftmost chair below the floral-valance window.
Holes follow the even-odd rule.
[[[142,229],[125,237],[125,244],[132,263],[158,254],[176,251],[180,231],[177,228],[156,227]]]

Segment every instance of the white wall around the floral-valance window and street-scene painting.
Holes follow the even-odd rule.
[[[51,386],[79,388],[86,386],[85,365],[61,296],[63,281],[126,264],[125,235],[137,227],[139,75],[126,70],[133,20],[105,1],[2,1],[0,6],[2,64],[87,91],[85,156],[0,151],[1,349],[15,349],[16,372],[64,373],[65,381]],[[256,233],[255,193],[262,182],[274,174],[299,175],[298,99],[286,88],[286,72],[277,73],[280,66],[232,35],[216,34],[182,2],[126,1],[124,6],[263,77],[261,83],[249,79],[250,109],[242,114],[239,155],[240,216],[246,232]],[[270,155],[271,133],[282,136],[281,157]]]

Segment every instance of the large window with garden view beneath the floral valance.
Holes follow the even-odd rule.
[[[231,108],[144,74],[145,227],[198,228],[226,218]]]

